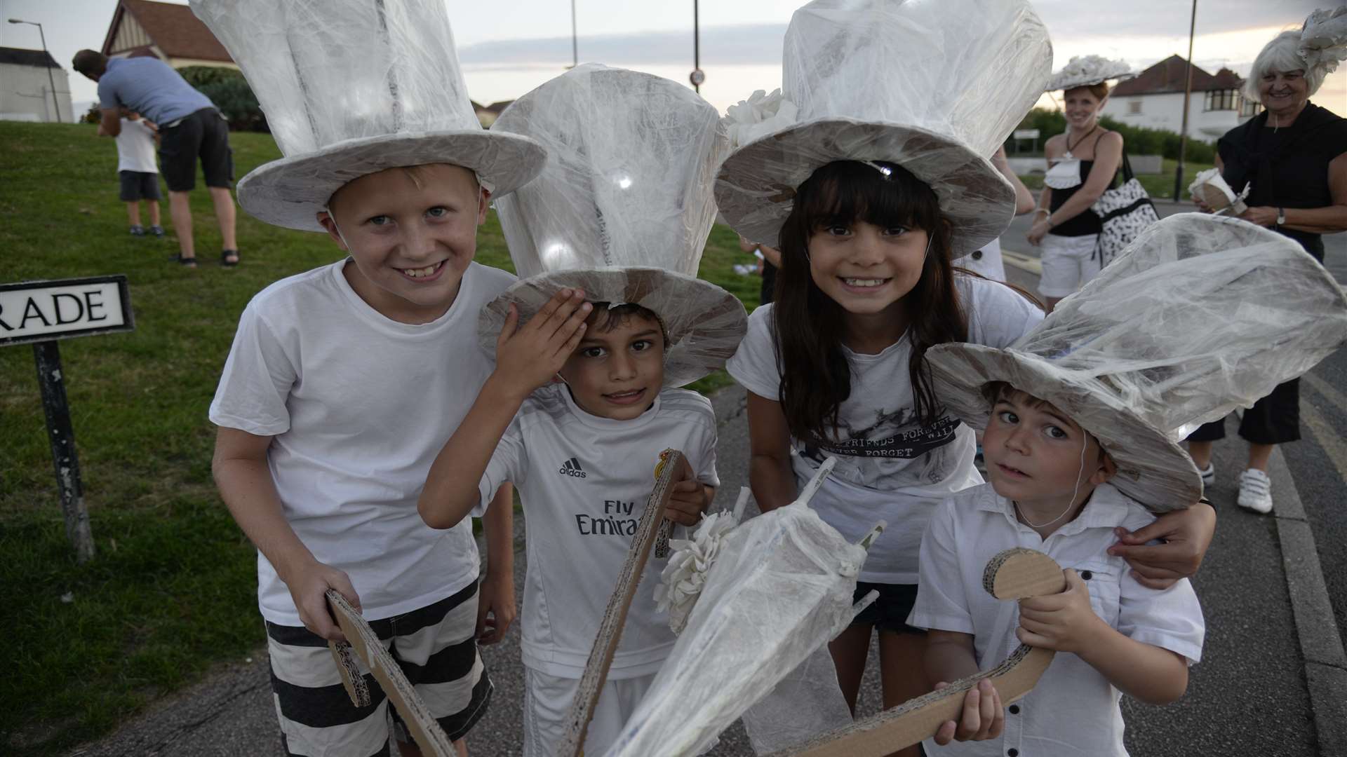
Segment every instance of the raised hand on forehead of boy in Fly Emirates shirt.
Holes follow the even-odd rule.
[[[511,304],[496,338],[492,380],[523,401],[566,365],[585,335],[585,319],[591,310],[594,306],[585,302],[582,290],[562,290],[520,326],[519,308]]]

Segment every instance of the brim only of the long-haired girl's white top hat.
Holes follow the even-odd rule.
[[[952,226],[952,257],[1001,236],[1014,217],[1014,189],[987,156],[919,127],[855,119],[814,119],[756,139],[723,163],[715,202],[745,238],[779,246],[796,189],[834,160],[885,160],[935,190]]]

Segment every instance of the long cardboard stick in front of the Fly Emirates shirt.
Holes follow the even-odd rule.
[[[683,453],[678,450],[665,450],[660,457],[664,458],[664,463],[657,469],[655,490],[651,492],[651,497],[645,502],[645,512],[641,513],[641,520],[636,524],[636,536],[632,537],[632,547],[626,552],[626,563],[622,566],[622,574],[617,579],[613,595],[607,599],[603,622],[598,626],[598,636],[594,638],[594,647],[590,648],[589,661],[585,663],[585,673],[581,676],[575,700],[571,702],[571,711],[566,719],[566,733],[562,734],[556,754],[564,757],[582,757],[585,754],[585,734],[594,717],[599,691],[607,679],[607,668],[613,664],[617,643],[622,637],[626,610],[632,606],[645,560],[651,556],[659,525],[664,521],[664,508],[669,502],[669,494],[674,493],[674,475],[683,465]]]

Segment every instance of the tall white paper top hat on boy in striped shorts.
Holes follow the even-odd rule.
[[[257,218],[323,230],[342,185],[451,163],[497,195],[537,174],[543,148],[481,127],[443,0],[191,0],[242,69],[286,155],[238,182]]]

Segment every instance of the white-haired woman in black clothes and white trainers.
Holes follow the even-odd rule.
[[[1304,30],[1278,34],[1262,48],[1245,94],[1265,110],[1216,141],[1226,183],[1237,193],[1251,185],[1249,209],[1239,217],[1296,240],[1320,263],[1320,234],[1347,230],[1347,120],[1309,101],[1336,66],[1329,53],[1347,40],[1316,34],[1325,22],[1347,34],[1347,7],[1317,11]],[[1224,435],[1224,420],[1216,420],[1188,438],[1188,453],[1208,484],[1216,477],[1211,445]],[[1278,385],[1245,411],[1239,435],[1249,442],[1249,462],[1237,502],[1270,512],[1268,458],[1276,445],[1300,439],[1300,383]]]

